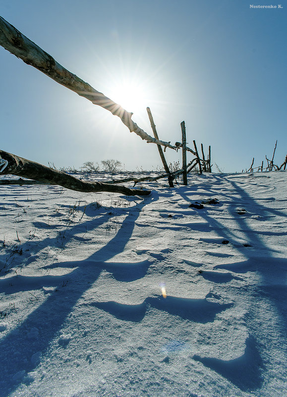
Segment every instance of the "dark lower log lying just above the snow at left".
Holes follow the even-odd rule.
[[[43,182],[49,185],[59,185],[77,192],[113,192],[122,193],[126,196],[147,196],[151,193],[150,190],[129,189],[125,186],[116,186],[103,182],[84,182],[65,172],[46,167],[3,150],[0,150],[0,175],[17,175],[33,179],[37,181],[37,184],[38,182]],[[23,180],[20,182],[21,184],[25,183]]]

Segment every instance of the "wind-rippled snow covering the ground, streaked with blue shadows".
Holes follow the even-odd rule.
[[[1,186],[0,396],[286,396],[286,180]]]

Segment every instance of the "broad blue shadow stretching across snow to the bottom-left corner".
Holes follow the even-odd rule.
[[[57,336],[57,332],[63,326],[72,307],[85,291],[91,287],[91,284],[98,279],[102,269],[107,266],[107,263],[104,262],[124,250],[132,235],[135,221],[141,209],[157,199],[158,194],[153,192],[152,196],[143,199],[140,204],[136,204],[136,207],[127,208],[127,215],[115,237],[104,247],[93,252],[87,259],[57,262],[57,265],[61,267],[72,267],[74,269],[68,275],[57,276],[55,281],[58,283],[60,280],[60,283],[56,284],[57,289],[0,342],[1,397],[7,396],[15,390],[23,380],[25,372],[33,370],[38,364],[38,361],[32,357],[33,354],[45,354],[49,345]],[[137,211],[135,211],[135,208]],[[112,264],[109,262],[108,266],[111,267]],[[142,277],[142,271],[146,271],[148,266],[148,263],[142,264],[142,268],[137,275]],[[118,275],[116,267],[115,265],[115,273]],[[72,281],[72,283],[64,286],[64,280]],[[19,281],[22,284],[23,280]],[[44,276],[43,281],[44,284],[49,282],[50,286],[55,285],[53,278],[47,280]],[[11,387],[11,379],[14,381],[13,387]]]

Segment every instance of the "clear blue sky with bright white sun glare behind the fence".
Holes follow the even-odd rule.
[[[287,3],[282,6],[1,0],[0,15],[69,71],[126,104],[150,135],[146,106],[161,139],[180,141],[184,120],[190,147],[193,139],[211,145],[213,163],[238,172],[253,156],[254,165],[272,157],[276,139],[275,162],[287,154]],[[0,75],[1,149],[45,165],[107,158],[126,169],[160,164],[156,145],[2,47]],[[173,162],[181,152],[167,149],[166,157]]]

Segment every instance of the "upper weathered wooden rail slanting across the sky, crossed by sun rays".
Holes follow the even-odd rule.
[[[19,32],[9,22],[0,17],[0,45],[22,59],[28,65],[34,66],[57,83],[74,91],[76,94],[90,100],[92,103],[109,110],[115,116],[118,116],[130,132],[134,132],[147,143],[162,145],[165,148],[176,149],[170,142],[159,141],[144,130],[142,130],[134,121],[131,120],[132,113],[123,109],[112,99],[106,97],[101,92],[95,90],[88,83],[81,80],[75,74],[69,72],[60,65],[51,55],[42,50],[35,43],[29,40]]]

